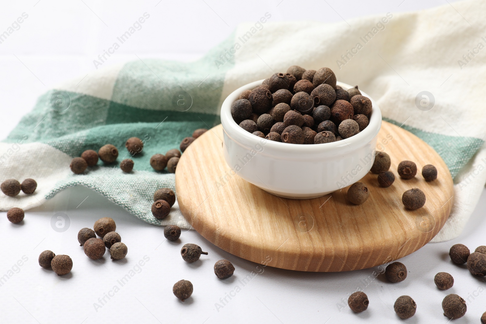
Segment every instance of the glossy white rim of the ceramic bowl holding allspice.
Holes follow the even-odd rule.
[[[322,153],[327,151],[333,151],[336,148],[342,149],[343,147],[346,146],[352,148],[353,150],[358,147],[362,147],[366,145],[366,143],[373,140],[373,138],[377,136],[378,132],[380,131],[382,125],[382,113],[380,107],[373,100],[373,98],[371,98],[369,95],[367,95],[364,91],[360,89],[361,94],[371,100],[372,110],[370,113],[371,115],[369,118],[368,126],[363,131],[361,131],[360,133],[354,136],[343,138],[343,140],[340,141],[335,141],[331,143],[322,143],[322,144],[290,144],[290,143],[276,142],[276,141],[255,136],[250,132],[245,131],[243,128],[240,127],[240,125],[236,123],[236,121],[233,119],[233,116],[231,115],[231,105],[233,102],[235,102],[240,98],[240,94],[244,90],[252,90],[258,85],[261,85],[264,80],[265,79],[261,79],[259,81],[251,82],[249,84],[243,85],[238,89],[234,90],[226,97],[225,101],[221,106],[220,117],[221,117],[221,124],[223,125],[223,129],[225,133],[233,140],[235,140],[234,137],[238,137],[238,140],[235,140],[238,143],[244,144],[245,146],[246,145],[255,146],[257,144],[262,144],[261,140],[265,140],[265,144],[264,144],[265,149],[278,150],[278,151],[285,150],[287,152],[303,153],[303,154]],[[351,85],[347,85],[342,82],[337,82],[336,84],[340,85],[345,90],[352,88]],[[244,140],[244,143],[242,142],[241,139]]]

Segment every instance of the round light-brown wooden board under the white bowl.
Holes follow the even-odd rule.
[[[417,251],[449,217],[453,184],[444,161],[417,136],[391,123],[383,121],[377,150],[390,154],[395,182],[381,188],[377,175],[369,172],[361,181],[371,194],[362,205],[347,201],[347,188],[306,200],[272,195],[231,175],[222,139],[218,125],[182,154],[175,177],[177,201],[196,231],[244,259],[300,271],[370,268]],[[417,164],[414,179],[399,178],[402,160]],[[437,180],[423,179],[426,164],[437,168]],[[411,188],[422,189],[427,197],[418,210],[401,202]]]

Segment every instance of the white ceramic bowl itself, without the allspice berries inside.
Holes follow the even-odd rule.
[[[347,187],[371,169],[375,159],[382,113],[373,99],[369,125],[360,133],[324,144],[280,143],[255,136],[241,128],[231,116],[231,104],[247,89],[263,80],[232,92],[221,107],[226,163],[240,177],[274,195],[308,199]],[[338,82],[344,89],[351,86]]]

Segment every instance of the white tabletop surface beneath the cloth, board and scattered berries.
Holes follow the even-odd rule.
[[[67,2],[2,3],[0,30],[23,12],[29,17],[0,44],[1,138],[33,107],[38,95],[62,80],[81,80],[93,71],[92,61],[114,35],[144,12],[150,13],[150,24],[145,24],[137,38],[131,38],[106,65],[136,59],[135,54],[142,58],[197,59],[224,40],[238,23],[257,19],[267,11],[275,21],[304,16],[322,20],[320,13],[327,12],[328,22],[334,22],[447,4],[442,0]],[[297,16],[297,8],[302,6],[313,10]],[[486,244],[485,207],[486,191],[459,238],[427,244],[402,258],[408,277],[391,284],[383,275],[373,276],[378,268],[304,273],[261,267],[226,253],[195,231],[184,232],[180,241],[169,242],[163,237],[162,227],[138,220],[90,189],[69,188],[28,210],[22,224],[12,224],[4,212],[0,213],[0,323],[401,323],[393,304],[405,294],[417,302],[416,315],[405,322],[447,323],[449,319],[441,309],[447,293],[457,293],[468,302],[466,316],[454,323],[479,323],[486,311],[485,282],[470,275],[464,266],[451,264],[448,251],[458,242],[472,250]],[[58,212],[69,218],[64,232],[51,226]],[[117,232],[128,246],[124,260],[113,262],[106,255],[100,261],[90,260],[77,243],[80,228],[92,227],[105,216],[116,221]],[[209,255],[187,264],[179,256],[184,243],[196,243]],[[74,266],[70,274],[57,276],[38,266],[38,255],[48,249],[71,256]],[[221,258],[230,260],[236,268],[235,275],[227,280],[219,280],[212,270]],[[434,286],[434,275],[441,271],[455,278],[454,287],[448,291]],[[121,285],[119,280],[126,274],[130,279]],[[173,284],[180,279],[191,280],[194,285],[194,293],[185,303],[172,294]],[[367,293],[370,306],[364,313],[353,314],[342,300],[358,287]]]

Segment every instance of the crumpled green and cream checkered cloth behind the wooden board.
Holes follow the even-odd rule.
[[[153,192],[174,189],[174,174],[152,170],[150,157],[178,148],[194,129],[217,125],[222,101],[237,87],[296,64],[330,67],[338,80],[359,85],[379,103],[385,120],[443,157],[455,197],[451,217],[434,240],[454,238],[486,182],[486,35],[479,34],[486,30],[480,15],[486,3],[453,6],[337,24],[276,23],[271,13],[262,13],[196,62],[138,59],[90,72],[79,84],[66,82],[42,95],[0,143],[0,181],[31,177],[39,184],[33,196],[1,195],[0,208],[34,207],[83,185],[146,222],[189,228],[177,205],[166,220],[152,216]],[[143,153],[133,157],[133,173],[101,161],[86,174],[69,170],[72,157],[105,143],[118,147],[121,161],[131,136],[146,141]]]

